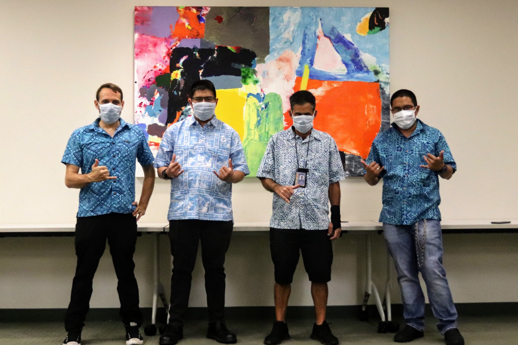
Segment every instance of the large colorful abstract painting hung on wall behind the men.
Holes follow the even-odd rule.
[[[270,137],[292,125],[289,97],[316,97],[314,128],[336,141],[344,171],[389,126],[389,9],[135,7],[135,123],[156,153],[168,126],[192,115],[200,79],[217,89],[255,176]]]

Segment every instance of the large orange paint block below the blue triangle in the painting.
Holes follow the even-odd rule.
[[[297,77],[294,91],[301,81]],[[340,151],[366,159],[381,126],[379,83],[309,79],[307,90],[316,98],[314,128],[330,134]],[[287,111],[284,122],[284,129],[293,124]]]

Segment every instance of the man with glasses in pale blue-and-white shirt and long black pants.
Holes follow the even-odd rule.
[[[194,82],[189,102],[194,115],[169,126],[154,163],[160,178],[171,181],[167,219],[174,258],[169,319],[160,344],[176,344],[183,338],[182,317],[189,305],[199,243],[209,313],[207,337],[235,343],[236,335],[225,325],[224,263],[234,227],[232,184],[250,172],[239,134],[215,117],[214,84]]]

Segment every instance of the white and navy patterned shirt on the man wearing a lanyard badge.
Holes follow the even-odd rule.
[[[297,158],[298,156],[298,158]],[[270,138],[257,177],[293,186],[297,168],[309,169],[306,188],[297,188],[287,203],[274,193],[270,227],[324,230],[329,226],[329,184],[345,178],[335,140],[313,128],[304,140],[293,127]]]

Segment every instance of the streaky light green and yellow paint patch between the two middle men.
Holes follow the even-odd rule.
[[[244,106],[244,156],[249,176],[256,176],[270,137],[284,127],[281,96],[269,93],[263,102],[249,96]]]

